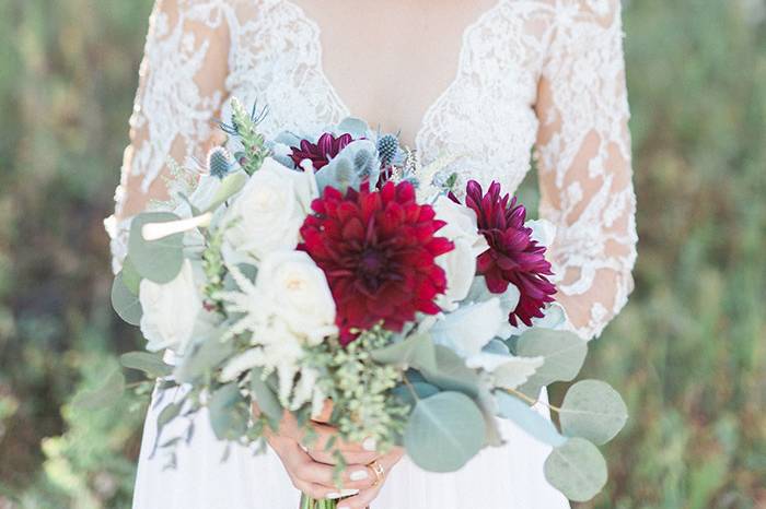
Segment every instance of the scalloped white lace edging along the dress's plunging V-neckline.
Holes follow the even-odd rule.
[[[335,84],[333,80],[330,80],[329,75],[327,75],[327,72],[325,71],[325,66],[324,66],[324,44],[322,42],[322,27],[320,24],[312,17],[310,16],[305,9],[303,9],[302,5],[295,3],[292,0],[281,0],[285,4],[288,4],[292,7],[292,9],[295,10],[298,15],[301,17],[301,20],[309,24],[313,28],[313,36],[314,36],[314,47],[316,48],[316,71],[318,72],[322,81],[325,83],[327,86],[327,90],[330,92],[330,95],[337,103],[337,106],[339,109],[343,110],[343,116],[344,117],[350,117],[353,116],[353,111],[351,108],[348,106],[346,100],[340,96],[340,93],[338,88],[335,87]],[[420,117],[420,120],[416,125],[416,129],[414,132],[414,139],[411,140],[413,143],[415,144],[414,149],[416,149],[418,152],[420,152],[420,138],[421,134],[426,131],[427,125],[428,125],[428,119],[433,115],[433,111],[439,107],[439,105],[443,102],[444,97],[446,97],[452,90],[457,86],[457,82],[460,81],[461,74],[463,72],[463,61],[466,59],[466,52],[468,51],[468,37],[479,26],[481,26],[487,19],[492,16],[497,10],[499,10],[508,0],[496,0],[489,8],[486,10],[481,11],[476,20],[471,22],[468,25],[463,28],[462,35],[461,35],[461,44],[460,44],[460,49],[457,51],[456,58],[457,58],[457,64],[455,66],[455,71],[454,71],[454,76],[452,80],[448,83],[446,87],[439,94],[437,95],[437,98],[431,102],[428,107],[426,108],[425,113]],[[365,120],[365,119],[363,119]]]

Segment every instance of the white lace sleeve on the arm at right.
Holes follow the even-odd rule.
[[[561,2],[539,83],[541,216],[557,299],[590,339],[626,304],[636,260],[619,0]]]

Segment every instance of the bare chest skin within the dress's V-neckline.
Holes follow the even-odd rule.
[[[496,0],[297,0],[322,32],[323,67],[351,115],[413,144],[454,80],[465,29]]]

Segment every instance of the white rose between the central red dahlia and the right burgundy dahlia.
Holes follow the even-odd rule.
[[[476,213],[448,197],[439,197],[433,204],[437,218],[446,222],[438,235],[452,240],[455,248],[437,258],[446,274],[446,292],[437,304],[445,311],[454,310],[471,289],[476,275],[476,257],[487,249],[487,241],[478,233]]]

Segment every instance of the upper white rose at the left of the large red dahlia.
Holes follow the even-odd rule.
[[[235,250],[263,260],[269,252],[294,249],[311,201],[314,176],[287,168],[268,157],[227,211],[232,224],[225,239]]]

